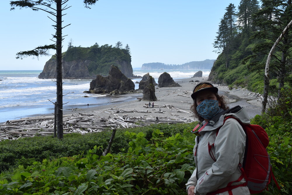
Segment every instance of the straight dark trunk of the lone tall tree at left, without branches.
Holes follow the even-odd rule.
[[[57,26],[56,26],[56,60],[57,60],[57,134],[63,139],[63,83],[62,83],[62,0],[56,0]]]

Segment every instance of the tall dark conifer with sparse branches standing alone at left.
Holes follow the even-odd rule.
[[[68,9],[71,6],[67,6],[67,2],[69,0],[35,0],[35,1],[29,1],[29,0],[20,0],[20,1],[10,1],[11,10],[14,10],[16,7],[21,8],[31,8],[33,11],[45,11],[47,12],[50,18],[55,25],[55,34],[53,35],[53,39],[51,39],[54,44],[51,45],[45,45],[45,46],[39,46],[36,47],[33,50],[30,51],[21,51],[17,53],[17,58],[22,58],[26,56],[43,56],[43,55],[49,55],[48,50],[49,49],[55,49],[56,50],[56,85],[57,85],[57,103],[56,103],[56,115],[57,115],[57,136],[59,139],[63,139],[63,87],[62,87],[62,29],[66,26],[62,26],[62,16],[65,15],[63,13],[64,10]],[[86,8],[90,8],[88,6],[94,5],[98,0],[83,0],[84,5]],[[55,18],[55,19],[53,19]]]

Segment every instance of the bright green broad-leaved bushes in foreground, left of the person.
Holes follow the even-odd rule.
[[[60,158],[19,165],[0,179],[1,194],[183,194],[194,170],[194,136],[164,137],[155,129],[150,140],[142,132],[125,132],[128,152],[99,156],[94,146],[85,158]],[[192,139],[190,137],[192,136]],[[192,141],[190,141],[192,140]]]

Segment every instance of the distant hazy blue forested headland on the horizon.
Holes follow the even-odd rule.
[[[192,61],[180,65],[164,63],[145,63],[141,70],[210,70],[215,60]]]

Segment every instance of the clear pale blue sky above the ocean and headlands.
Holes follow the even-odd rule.
[[[64,11],[63,42],[66,51],[70,39],[74,46],[89,47],[97,42],[131,49],[132,67],[143,63],[183,64],[216,59],[214,39],[225,8],[240,0],[99,0],[91,9],[83,0],[70,0]],[[0,70],[42,70],[48,59],[15,59],[19,51],[51,44],[54,24],[44,11],[31,9],[10,11],[10,1],[0,1],[2,18]],[[51,17],[51,16],[50,16]],[[54,54],[51,51],[51,54]]]

